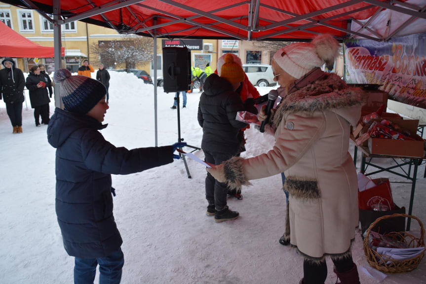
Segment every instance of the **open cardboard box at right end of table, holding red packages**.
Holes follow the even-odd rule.
[[[419,136],[416,134],[419,125],[418,119],[389,119],[402,129],[410,132],[410,137],[415,139]],[[368,139],[368,150],[371,154],[423,158],[425,155],[424,140],[393,140],[372,138]]]

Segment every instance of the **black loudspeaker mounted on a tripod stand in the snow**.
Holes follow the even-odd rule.
[[[187,47],[163,48],[164,92],[191,90],[191,51]]]

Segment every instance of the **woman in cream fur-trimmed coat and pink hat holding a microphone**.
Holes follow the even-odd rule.
[[[333,37],[320,35],[276,52],[272,69],[282,100],[271,122],[273,148],[207,169],[237,188],[284,172],[284,188],[290,193],[290,244],[305,257],[304,284],[325,282],[326,255],[342,284],[359,283],[350,253],[358,225],[358,184],[348,150],[349,128],[359,120],[363,92],[320,70],[334,62],[338,49]]]

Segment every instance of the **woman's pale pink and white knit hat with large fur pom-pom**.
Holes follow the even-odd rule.
[[[339,47],[339,42],[333,36],[319,35],[311,42],[297,42],[284,46],[273,55],[273,60],[282,70],[299,79],[324,64],[332,69],[334,60],[339,54]]]

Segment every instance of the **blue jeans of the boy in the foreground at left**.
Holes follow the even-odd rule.
[[[99,284],[119,284],[124,265],[124,255],[121,249],[106,257],[79,258],[76,257],[74,266],[74,284],[93,284],[96,267],[99,264]]]

